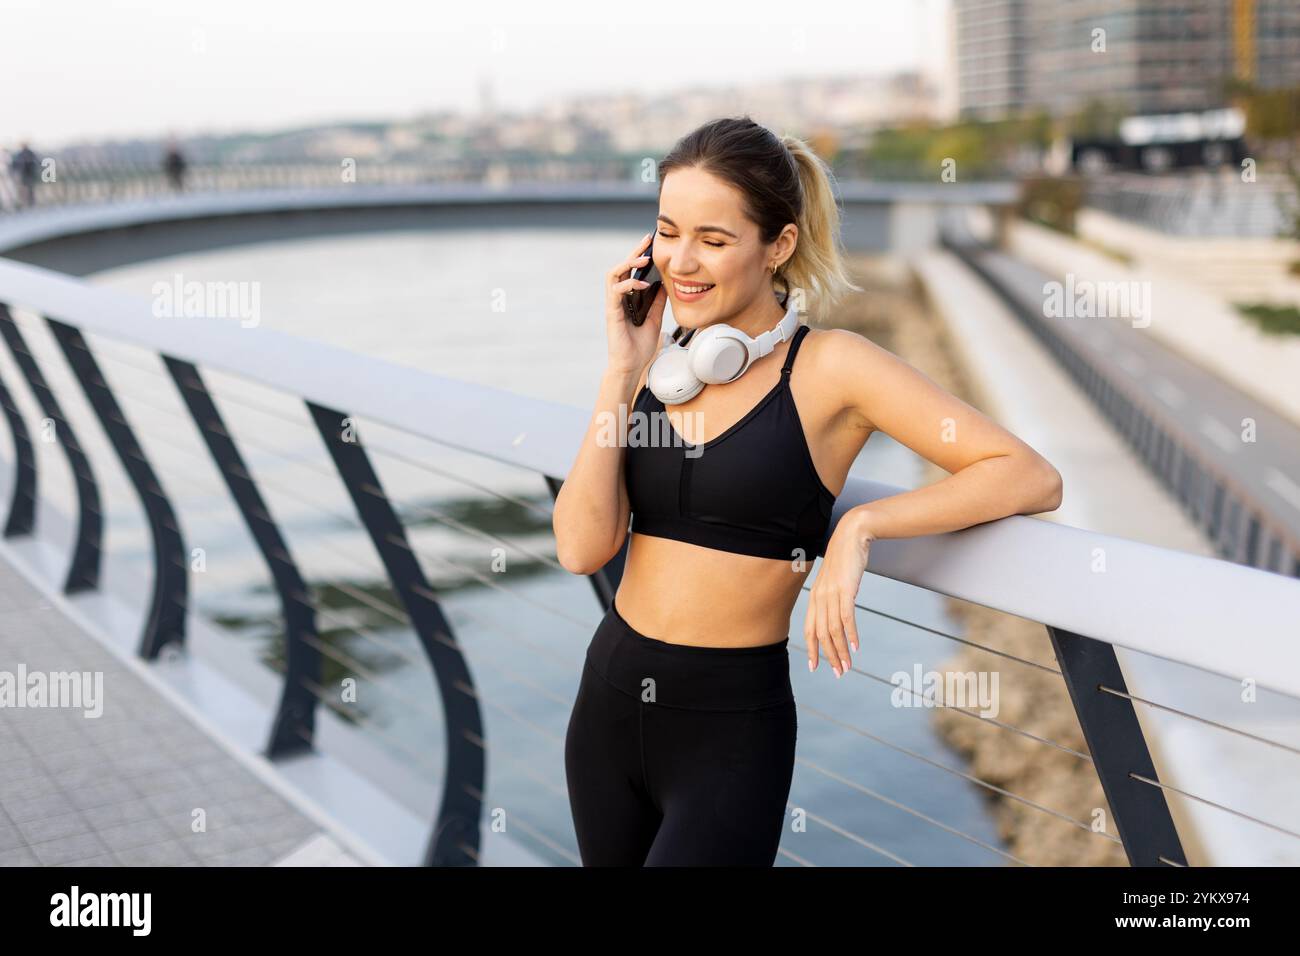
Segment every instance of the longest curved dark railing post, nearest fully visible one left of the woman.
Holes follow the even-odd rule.
[[[473,679],[451,626],[425,580],[406,528],[393,511],[378,475],[343,412],[306,402],[334,467],[347,486],[352,505],[384,562],[393,589],[402,600],[411,626],[433,665],[447,726],[447,773],[442,806],[425,851],[426,866],[471,866],[478,857],[478,818],[482,813],[482,717]],[[344,434],[347,437],[344,437]]]

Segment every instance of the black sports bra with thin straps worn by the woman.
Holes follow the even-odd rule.
[[[836,496],[812,464],[790,393],[807,332],[794,332],[771,392],[702,445],[682,438],[641,386],[632,410],[644,414],[629,419],[625,459],[633,532],[784,561],[822,553]]]

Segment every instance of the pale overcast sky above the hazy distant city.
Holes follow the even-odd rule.
[[[0,0],[0,144],[942,69],[949,0]],[[458,9],[472,7],[472,10]]]

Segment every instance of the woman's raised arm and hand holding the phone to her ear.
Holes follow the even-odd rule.
[[[659,345],[667,291],[660,287],[650,315],[641,326],[623,316],[623,294],[637,287],[628,278],[633,267],[641,265],[637,254],[650,239],[647,234],[632,255],[606,276],[606,336],[610,358],[601,376],[592,420],[569,473],[555,496],[551,528],[560,566],[573,574],[594,574],[623,548],[628,535],[630,506],[623,476],[627,434],[618,423],[627,421],[632,401],[640,392],[645,373]],[[620,415],[619,410],[625,411]],[[610,442],[608,423],[615,423],[618,441]]]

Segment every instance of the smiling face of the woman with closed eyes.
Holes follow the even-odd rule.
[[[659,190],[654,263],[659,267],[672,317],[697,329],[727,321],[759,297],[771,297],[771,264],[794,250],[793,224],[776,242],[759,241],[758,225],[741,212],[741,194],[702,169],[673,169]],[[688,289],[708,286],[703,293]]]

